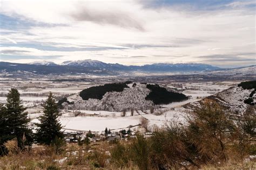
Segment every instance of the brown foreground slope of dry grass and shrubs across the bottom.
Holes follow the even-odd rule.
[[[0,157],[1,169],[255,169],[255,108],[232,120],[216,103],[206,102],[187,117],[173,119],[153,135],[87,145],[36,146],[16,151],[8,141],[9,155]],[[142,118],[141,125],[147,124]]]

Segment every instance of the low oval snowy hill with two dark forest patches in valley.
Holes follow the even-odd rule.
[[[59,101],[64,109],[123,111],[150,109],[187,100],[184,94],[158,84],[111,83],[90,87]]]

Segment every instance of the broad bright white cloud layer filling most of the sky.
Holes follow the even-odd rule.
[[[142,65],[204,62],[199,56],[255,53],[255,13],[244,8],[248,3],[228,5],[235,8],[177,11],[172,6],[144,8],[139,1],[3,1],[1,13],[36,22],[65,24],[10,32],[8,38],[18,44],[36,42],[42,47],[75,48],[68,52],[29,50],[23,51],[24,55],[61,56],[53,59],[55,62],[96,59]],[[78,50],[85,47],[95,51]],[[226,62],[232,65],[233,61]]]

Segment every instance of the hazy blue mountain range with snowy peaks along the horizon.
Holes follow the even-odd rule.
[[[119,63],[105,63],[98,60],[77,60],[64,61],[57,65],[51,61],[32,63],[11,63],[0,62],[2,73],[26,72],[39,75],[48,74],[90,74],[90,75],[119,75],[120,73],[220,73],[223,70],[239,72],[235,69],[221,69],[219,67],[203,63],[153,63],[143,66],[126,66]],[[242,70],[247,72],[247,67]],[[255,66],[248,68],[250,72],[255,72]]]

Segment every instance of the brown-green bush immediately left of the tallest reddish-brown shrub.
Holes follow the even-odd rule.
[[[199,154],[188,140],[185,126],[176,119],[163,128],[156,128],[150,138],[152,165],[157,169],[180,169],[191,165],[198,168],[195,158]]]

